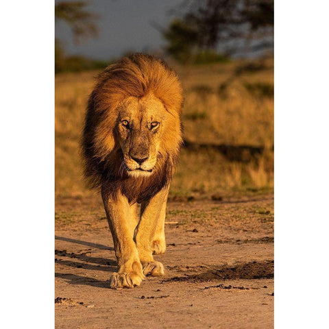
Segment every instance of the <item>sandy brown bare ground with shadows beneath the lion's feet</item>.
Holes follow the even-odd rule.
[[[56,328],[273,328],[273,195],[169,202],[166,275],[108,288],[98,198],[56,200]]]

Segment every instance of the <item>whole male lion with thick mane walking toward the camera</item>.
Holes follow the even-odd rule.
[[[88,99],[84,173],[99,188],[118,271],[113,289],[162,276],[169,185],[182,146],[183,93],[166,62],[135,53],[108,66]],[[137,204],[141,215],[137,216]]]

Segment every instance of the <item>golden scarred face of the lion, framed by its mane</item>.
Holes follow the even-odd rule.
[[[134,177],[152,175],[160,156],[160,142],[168,129],[170,115],[162,102],[149,94],[130,97],[119,108],[117,136],[127,173]]]

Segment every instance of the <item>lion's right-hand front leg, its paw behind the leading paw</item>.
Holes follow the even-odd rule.
[[[148,202],[143,203],[141,207],[141,220],[135,230],[134,239],[136,241],[139,258],[141,259],[145,276],[162,276],[164,274],[162,263],[156,262],[152,254],[156,234],[162,234],[158,237],[161,239],[162,243],[164,243],[165,249],[164,231],[157,230],[160,215],[162,215],[163,211],[165,212],[164,204],[167,202],[168,191],[169,188],[164,188],[154,195],[154,197],[149,199]],[[160,228],[161,227],[162,224],[160,223]],[[163,252],[164,249],[162,244]]]

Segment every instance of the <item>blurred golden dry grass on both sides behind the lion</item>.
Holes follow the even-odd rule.
[[[210,147],[182,150],[171,197],[211,197],[273,188],[273,97],[269,94],[273,61],[267,60],[260,71],[245,71],[227,88],[220,88],[242,64],[175,67],[186,97],[184,138]],[[96,74],[56,76],[56,195],[94,194],[82,180],[79,139]],[[241,160],[228,158],[214,145],[250,145],[265,150]]]

